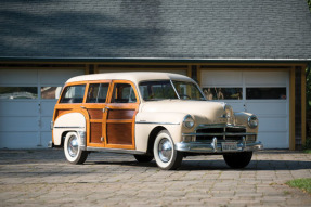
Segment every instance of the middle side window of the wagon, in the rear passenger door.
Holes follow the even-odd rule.
[[[90,85],[87,103],[105,103],[109,83]]]

